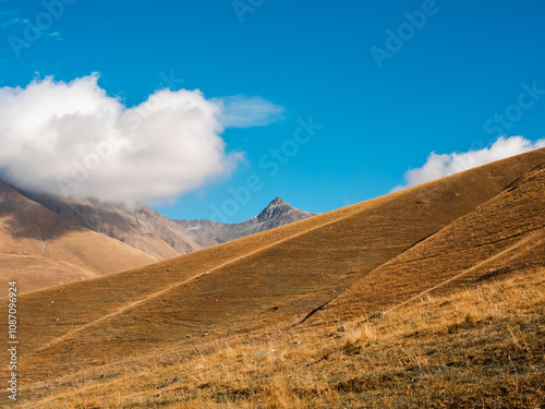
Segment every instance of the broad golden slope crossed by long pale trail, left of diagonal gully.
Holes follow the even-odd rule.
[[[39,380],[206,334],[301,321],[544,161],[545,149],[535,151],[145,268],[24,294],[21,321],[33,323],[21,327],[24,374]],[[33,305],[51,301],[36,314]]]

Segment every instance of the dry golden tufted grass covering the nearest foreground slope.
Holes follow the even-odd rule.
[[[382,318],[294,326],[35,384],[19,407],[540,408],[544,320],[542,268]]]

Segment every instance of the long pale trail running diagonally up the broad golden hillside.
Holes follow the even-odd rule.
[[[214,270],[220,269],[220,268],[222,268],[222,267],[225,267],[225,266],[227,266],[227,265],[229,265],[229,264],[232,264],[232,263],[238,262],[239,260],[242,260],[242,258],[249,257],[249,256],[251,256],[251,255],[257,254],[257,253],[259,253],[259,252],[266,251],[266,250],[268,250],[268,249],[270,249],[270,248],[274,248],[275,245],[281,244],[281,243],[283,243],[283,242],[286,242],[286,241],[289,241],[289,240],[291,240],[291,239],[294,239],[294,238],[298,238],[298,237],[300,237],[300,236],[306,234],[306,233],[308,233],[308,232],[311,232],[311,231],[313,231],[313,230],[320,229],[320,228],[326,227],[326,226],[328,226],[328,225],[332,225],[332,224],[338,222],[338,221],[341,221],[341,220],[343,220],[343,219],[346,219],[346,218],[349,218],[349,217],[355,216],[355,215],[358,215],[358,214],[359,214],[359,213],[361,213],[361,212],[363,212],[363,209],[358,210],[358,212],[355,212],[355,213],[349,213],[348,215],[344,215],[344,216],[342,216],[342,217],[339,217],[339,218],[337,218],[337,219],[335,219],[335,220],[327,221],[327,222],[325,222],[325,224],[323,224],[323,225],[319,225],[319,226],[313,226],[313,227],[308,228],[307,230],[303,230],[303,231],[301,231],[301,232],[298,232],[298,233],[292,234],[292,236],[290,236],[290,237],[287,237],[287,238],[284,238],[284,239],[281,239],[281,240],[278,240],[278,241],[275,241],[274,243],[267,244],[267,245],[265,245],[265,246],[263,246],[263,248],[259,248],[259,249],[257,249],[257,250],[251,251],[250,253],[246,253],[246,254],[240,255],[240,256],[238,256],[238,257],[234,257],[234,258],[228,260],[227,262],[221,263],[221,264],[217,265],[216,267],[208,268],[206,272],[201,272],[201,273],[198,273],[198,274],[196,274],[196,275],[194,275],[194,276],[192,276],[192,277],[190,277],[190,278],[187,278],[187,279],[184,279],[184,280],[182,280],[182,281],[179,281],[179,282],[175,282],[175,284],[173,284],[173,285],[171,285],[171,286],[168,286],[167,288],[165,288],[165,289],[162,289],[162,290],[160,290],[160,291],[153,292],[153,293],[150,293],[149,296],[147,296],[147,297],[145,297],[145,298],[143,298],[143,299],[141,299],[141,300],[137,300],[137,301],[131,302],[131,303],[129,303],[129,304],[125,304],[125,305],[123,305],[123,306],[119,308],[117,311],[114,311],[114,312],[112,312],[112,313],[110,313],[110,314],[104,315],[104,316],[101,316],[101,317],[99,317],[99,318],[97,318],[97,320],[95,320],[95,321],[92,321],[92,322],[89,322],[89,323],[87,323],[87,324],[83,324],[83,325],[78,326],[77,328],[72,329],[71,332],[69,332],[69,333],[66,333],[66,334],[64,334],[64,335],[60,336],[59,338],[56,338],[56,339],[51,340],[50,342],[46,344],[45,346],[43,346],[43,347],[40,347],[40,348],[38,348],[38,349],[35,349],[34,351],[29,352],[29,353],[28,353],[28,356],[26,356],[25,358],[28,358],[28,357],[32,357],[32,356],[33,356],[33,354],[35,354],[35,353],[38,353],[38,352],[45,351],[46,349],[51,348],[51,347],[53,347],[53,346],[56,346],[56,345],[58,345],[58,344],[60,344],[60,342],[64,341],[65,339],[71,338],[73,335],[75,335],[75,334],[77,334],[77,333],[81,333],[82,330],[85,330],[85,329],[87,329],[87,328],[90,328],[92,326],[94,326],[94,325],[96,325],[96,324],[99,324],[99,323],[106,322],[106,321],[108,321],[109,318],[114,317],[114,316],[117,316],[117,315],[121,315],[121,314],[123,314],[124,312],[126,312],[126,311],[129,311],[129,310],[131,310],[131,309],[133,309],[133,308],[135,308],[135,306],[142,305],[142,304],[145,304],[147,301],[150,301],[150,300],[153,300],[153,299],[156,299],[156,298],[158,298],[158,297],[161,297],[161,296],[164,296],[164,294],[166,294],[166,293],[170,292],[171,290],[173,290],[173,289],[175,289],[175,288],[178,288],[178,287],[181,287],[181,286],[183,286],[183,285],[185,285],[185,284],[187,284],[187,282],[191,282],[191,281],[193,281],[193,280],[195,280],[195,279],[197,279],[197,278],[199,278],[199,277],[202,277],[202,276],[204,276],[206,273],[209,273],[209,272],[214,272]]]

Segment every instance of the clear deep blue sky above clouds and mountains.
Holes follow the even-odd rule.
[[[405,183],[432,152],[486,147],[504,133],[545,136],[543,2],[59,1],[52,12],[0,1],[0,87],[98,72],[98,85],[126,107],[172,77],[206,98],[283,108],[268,125],[226,129],[227,152],[243,159],[155,206],[172,218],[210,218],[231,201],[217,219],[241,221],[276,196],[327,212]],[[32,41],[28,22],[47,25]],[[25,46],[14,51],[13,36]],[[379,63],[378,49],[388,56]],[[523,107],[506,112],[523,93]],[[301,123],[311,118],[308,135]],[[275,159],[282,146],[289,155]],[[243,194],[249,178],[253,191]]]

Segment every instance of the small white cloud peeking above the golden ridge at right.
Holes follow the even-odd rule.
[[[500,136],[489,147],[479,151],[455,152],[443,155],[432,152],[424,166],[405,172],[405,184],[393,188],[392,192],[540,147],[545,147],[545,140],[532,142],[522,136]]]

